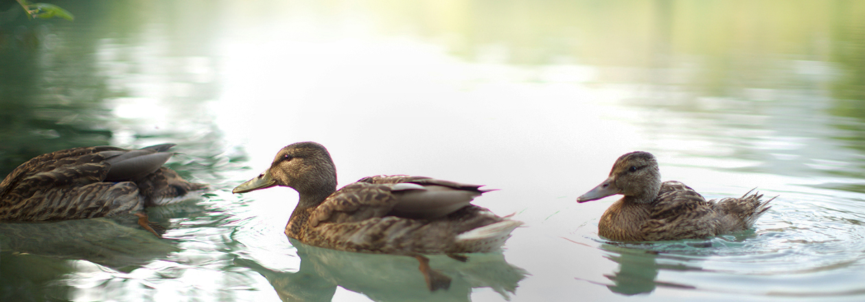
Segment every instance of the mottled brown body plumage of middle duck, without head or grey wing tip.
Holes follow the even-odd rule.
[[[303,219],[289,222],[286,234],[304,242],[315,242],[319,247],[368,253],[479,253],[500,247],[468,246],[457,240],[459,234],[505,220],[481,207],[469,205],[434,220],[388,215],[397,202],[391,192],[396,183],[437,184],[462,190],[480,187],[429,177],[365,177],[337,190],[316,209],[311,209],[306,227],[298,224],[303,223]]]

